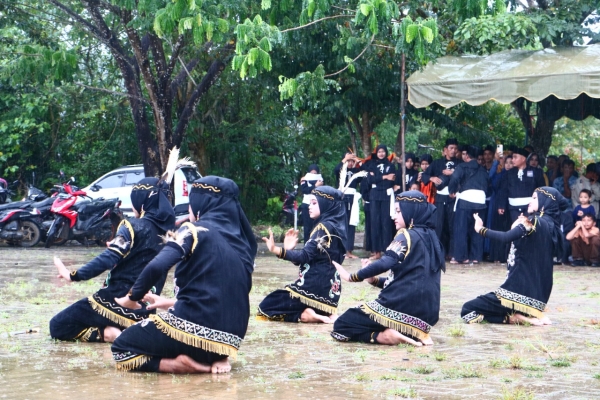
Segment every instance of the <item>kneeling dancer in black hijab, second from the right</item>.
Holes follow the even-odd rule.
[[[343,280],[367,280],[381,288],[379,297],[350,308],[335,321],[331,336],[355,341],[414,346],[432,345],[431,327],[439,319],[440,276],[444,251],[435,234],[435,206],[416,190],[396,195],[398,234],[381,259],[350,274],[336,264]],[[387,278],[377,275],[388,272]]]

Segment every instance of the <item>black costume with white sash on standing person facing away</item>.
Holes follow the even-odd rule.
[[[456,194],[452,256],[457,261],[483,258],[483,237],[473,229],[473,214],[478,213],[485,223],[487,189],[488,173],[477,160],[459,164],[450,175],[448,190]]]

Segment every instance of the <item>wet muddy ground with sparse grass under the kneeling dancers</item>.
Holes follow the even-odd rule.
[[[252,317],[230,374],[175,376],[120,373],[109,344],[48,336],[50,318],[104,279],[65,284],[56,278],[52,256],[76,268],[100,251],[0,247],[0,398],[600,398],[600,268],[555,268],[550,327],[461,323],[462,304],[495,289],[506,269],[448,265],[433,347],[338,343],[327,325]],[[355,271],[360,261],[345,265]],[[296,272],[274,256],[257,258],[253,309]],[[366,283],[345,283],[340,311],[376,296]],[[40,332],[24,333],[31,328]]]

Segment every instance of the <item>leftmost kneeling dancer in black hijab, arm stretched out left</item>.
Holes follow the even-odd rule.
[[[59,277],[66,281],[92,279],[109,270],[104,287],[88,298],[67,307],[50,320],[50,335],[59,340],[112,342],[121,330],[146,318],[150,311],[124,310],[114,301],[124,296],[162,247],[159,236],[175,226],[175,212],[166,196],[169,185],[157,178],[144,178],[131,190],[131,203],[136,218],[125,219],[117,228],[107,249],[76,271],[69,272],[58,257],[54,264]],[[154,284],[160,293],[167,275]]]

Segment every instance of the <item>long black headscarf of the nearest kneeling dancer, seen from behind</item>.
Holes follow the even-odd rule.
[[[258,246],[238,200],[239,193],[231,179],[205,176],[192,184],[190,206],[194,215],[200,217],[199,222],[219,232],[252,273]]]

